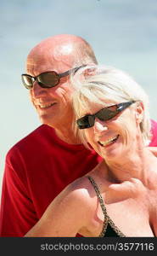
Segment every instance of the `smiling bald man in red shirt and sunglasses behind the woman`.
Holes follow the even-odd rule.
[[[24,236],[64,187],[98,164],[72,131],[70,71],[97,63],[91,46],[57,35],[31,49],[23,84],[42,125],[8,151],[3,177],[0,236]],[[157,146],[157,124],[152,121]],[[155,132],[156,130],[156,132]]]

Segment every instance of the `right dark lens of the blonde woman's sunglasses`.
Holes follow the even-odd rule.
[[[117,106],[111,106],[109,108],[104,108],[98,111],[97,117],[101,121],[107,121],[109,119],[113,119],[117,113]]]

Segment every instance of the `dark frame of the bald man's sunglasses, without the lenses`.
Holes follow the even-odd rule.
[[[35,81],[37,81],[37,83],[38,83],[42,88],[47,88],[47,89],[49,89],[49,88],[52,88],[52,87],[58,85],[61,78],[64,78],[64,77],[70,75],[70,73],[76,73],[76,71],[77,71],[78,69],[80,69],[81,67],[85,67],[85,66],[86,66],[86,65],[82,65],[82,66],[80,66],[80,67],[74,67],[74,68],[71,68],[71,69],[68,70],[68,71],[65,71],[64,73],[57,73],[57,72],[55,72],[55,71],[52,70],[52,71],[40,73],[40,74],[38,74],[36,77],[33,77],[33,76],[31,76],[31,75],[29,75],[29,74],[27,74],[27,73],[22,73],[22,74],[21,74],[21,79],[22,79],[22,83],[24,84],[25,88],[28,89],[28,90],[31,90],[31,89],[33,88],[33,84],[34,84]],[[45,74],[45,73],[54,73],[55,76],[56,76],[56,79],[57,79],[56,83],[55,83],[55,84],[47,85],[47,84],[43,84],[42,82],[40,82],[38,79],[40,78],[40,76],[41,76],[42,74]],[[32,85],[25,84],[24,76],[29,77],[29,78],[31,79]]]

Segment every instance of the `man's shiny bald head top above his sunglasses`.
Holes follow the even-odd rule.
[[[95,63],[96,57],[90,44],[81,37],[61,34],[37,44],[27,57],[27,73],[38,73],[37,67],[64,72],[71,67]],[[46,67],[48,65],[48,67]],[[40,73],[47,70],[42,70]],[[36,74],[35,74],[36,75]]]

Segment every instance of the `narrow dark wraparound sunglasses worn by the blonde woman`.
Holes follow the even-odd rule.
[[[93,127],[95,118],[98,118],[101,121],[113,119],[118,113],[121,113],[122,110],[126,109],[134,102],[135,101],[122,102],[120,104],[112,105],[107,108],[102,108],[97,113],[87,114],[81,117],[81,119],[77,119],[76,124],[78,125],[79,129],[87,129]]]

